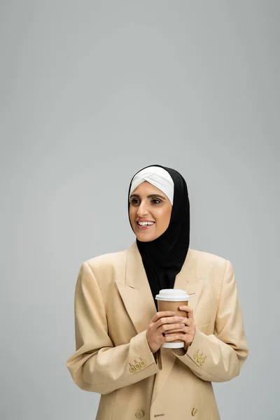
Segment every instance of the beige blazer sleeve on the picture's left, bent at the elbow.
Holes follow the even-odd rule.
[[[67,360],[66,366],[79,388],[111,393],[162,369],[160,352],[155,356],[151,352],[146,330],[132,337],[127,344],[113,345],[108,334],[102,293],[87,262],[78,273],[74,316],[76,352]],[[138,369],[132,367],[135,360],[139,360]]]

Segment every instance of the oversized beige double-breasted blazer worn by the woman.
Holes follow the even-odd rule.
[[[136,242],[80,267],[66,365],[81,389],[102,394],[97,420],[220,419],[211,382],[237,377],[248,356],[232,264],[189,249],[174,288],[190,295],[195,338],[187,352],[154,356],[146,329],[156,308]]]

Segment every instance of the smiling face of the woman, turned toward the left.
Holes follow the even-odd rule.
[[[172,204],[167,195],[147,181],[130,194],[130,222],[139,241],[160,237],[168,228],[171,214]]]

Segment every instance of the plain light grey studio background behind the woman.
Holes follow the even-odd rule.
[[[221,417],[280,419],[279,12],[1,1],[1,420],[94,419],[66,370],[76,276],[132,244],[127,188],[153,163],[186,178],[190,246],[235,268],[250,356],[214,386]]]

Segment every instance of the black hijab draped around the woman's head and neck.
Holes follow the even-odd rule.
[[[154,241],[142,242],[137,239],[137,247],[155,300],[155,295],[158,295],[161,289],[174,288],[176,274],[181,271],[186,260],[190,244],[190,202],[186,181],[179,172],[161,165],[148,167],[151,166],[165,169],[174,182],[172,214],[167,230]],[[131,186],[132,181],[130,188]],[[130,188],[128,211],[130,211]],[[130,225],[132,226],[131,223]],[[157,300],[155,306],[158,308]]]

